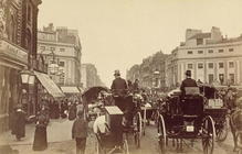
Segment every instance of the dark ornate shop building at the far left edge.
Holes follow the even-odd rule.
[[[20,72],[23,68],[39,69],[36,20],[41,2],[0,1],[0,132],[11,127],[11,116],[18,103],[23,105],[28,114],[35,112],[38,98],[33,94],[36,92],[38,84],[23,86]]]

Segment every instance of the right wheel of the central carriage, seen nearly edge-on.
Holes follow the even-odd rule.
[[[135,116],[135,144],[136,147],[139,148],[140,147],[140,139],[141,139],[141,134],[143,134],[143,120],[141,120],[141,114],[140,112],[137,112],[137,114]]]

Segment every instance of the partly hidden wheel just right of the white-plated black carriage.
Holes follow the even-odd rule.
[[[215,128],[215,135],[218,142],[223,142],[227,139],[229,132],[229,123],[228,119],[225,118],[224,121],[221,121],[221,124]]]

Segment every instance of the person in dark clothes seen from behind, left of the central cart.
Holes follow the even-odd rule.
[[[84,119],[84,111],[80,110],[72,125],[72,139],[76,142],[76,154],[84,154],[86,147],[88,122]]]

